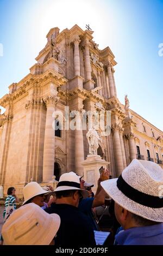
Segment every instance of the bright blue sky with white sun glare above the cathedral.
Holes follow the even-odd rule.
[[[163,0],[0,0],[0,97],[29,73],[49,29],[76,23],[114,53],[120,101],[127,93],[130,108],[163,130]]]

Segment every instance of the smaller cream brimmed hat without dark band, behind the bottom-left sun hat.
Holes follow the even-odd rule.
[[[46,190],[43,190],[39,183],[37,182],[29,182],[24,188],[23,188],[23,196],[24,196],[24,202],[22,205],[26,204],[29,199],[32,199],[36,195],[41,194],[48,194]]]

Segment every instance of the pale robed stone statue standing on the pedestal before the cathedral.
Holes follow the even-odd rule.
[[[89,142],[89,154],[97,154],[98,142],[102,142],[95,128],[89,129],[86,133],[86,138]]]

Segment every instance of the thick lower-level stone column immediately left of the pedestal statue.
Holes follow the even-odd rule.
[[[83,166],[81,163],[84,161],[84,144],[83,144],[83,127],[82,127],[82,116],[83,110],[79,109],[77,115],[77,129],[74,130],[75,135],[75,166],[76,173],[79,176],[83,175]]]

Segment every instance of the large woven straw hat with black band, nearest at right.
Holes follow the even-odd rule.
[[[163,170],[158,164],[134,159],[119,178],[103,181],[101,186],[124,209],[163,222]]]

